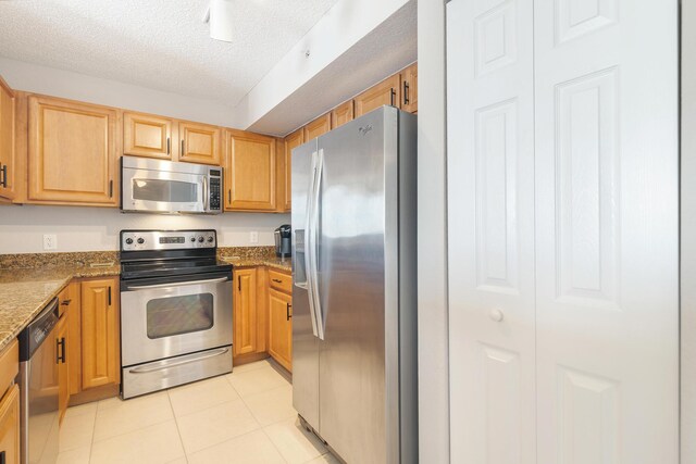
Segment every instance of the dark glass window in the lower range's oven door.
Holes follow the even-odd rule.
[[[208,330],[213,323],[211,293],[157,298],[147,303],[147,334],[150,339]]]

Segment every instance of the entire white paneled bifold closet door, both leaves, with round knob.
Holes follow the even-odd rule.
[[[676,463],[676,0],[447,24],[451,461]]]

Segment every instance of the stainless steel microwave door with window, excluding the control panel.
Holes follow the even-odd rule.
[[[204,213],[209,208],[207,175],[133,167],[122,174],[123,211]]]

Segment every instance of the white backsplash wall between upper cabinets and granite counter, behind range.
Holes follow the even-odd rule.
[[[58,252],[117,250],[121,229],[217,230],[220,247],[274,243],[273,230],[289,224],[289,214],[224,213],[215,216],[123,214],[119,210],[77,206],[0,206],[0,254],[44,253],[44,234],[55,234]],[[259,242],[249,233],[259,233]]]

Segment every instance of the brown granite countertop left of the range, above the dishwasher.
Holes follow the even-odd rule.
[[[105,267],[61,266],[0,271],[0,350],[4,349],[41,310],[76,277],[104,277],[121,273]]]

